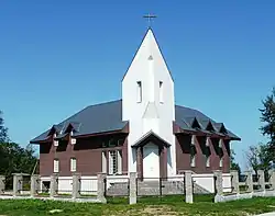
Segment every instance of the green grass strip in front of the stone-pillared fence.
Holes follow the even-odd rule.
[[[252,198],[215,204],[211,196],[195,197],[196,203],[186,204],[183,196],[144,197],[136,205],[128,205],[125,198],[110,198],[108,204],[70,203],[38,200],[2,200],[0,215],[7,216],[134,216],[134,215],[194,215],[194,216],[248,216],[275,211],[275,197]],[[50,213],[62,209],[61,213]]]

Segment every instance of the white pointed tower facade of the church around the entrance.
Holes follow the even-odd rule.
[[[174,81],[151,29],[122,80],[122,118],[130,122],[129,172],[136,171],[136,155],[131,146],[153,130],[170,144],[167,174],[176,174]]]

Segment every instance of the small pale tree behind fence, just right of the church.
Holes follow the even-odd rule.
[[[256,174],[258,170],[264,170],[267,173],[272,168],[270,145],[260,144],[258,146],[250,146],[246,158],[250,167]]]

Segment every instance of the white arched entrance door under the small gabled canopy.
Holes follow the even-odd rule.
[[[143,147],[143,178],[160,178],[158,146],[152,143]]]

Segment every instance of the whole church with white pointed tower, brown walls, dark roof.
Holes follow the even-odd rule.
[[[175,104],[174,80],[151,27],[121,84],[121,99],[87,106],[31,140],[40,145],[42,177],[229,173],[230,141],[241,139],[222,122]]]

